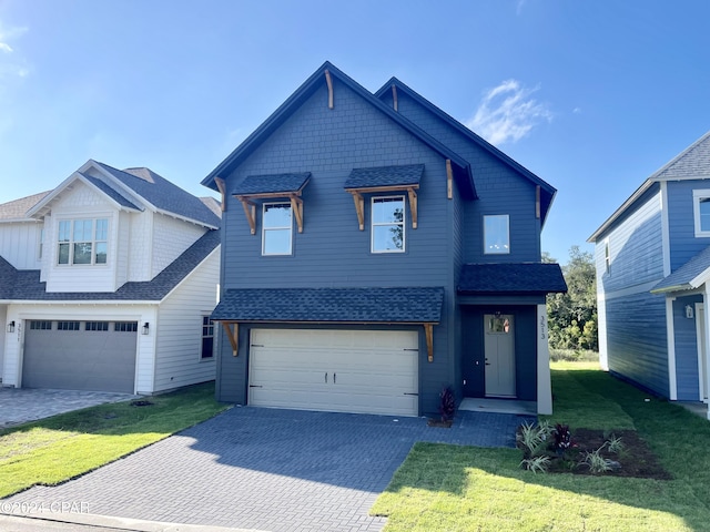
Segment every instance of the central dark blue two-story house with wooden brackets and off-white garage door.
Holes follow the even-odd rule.
[[[420,416],[452,386],[551,411],[556,191],[400,81],[326,62],[202,183],[224,211],[217,399]]]

